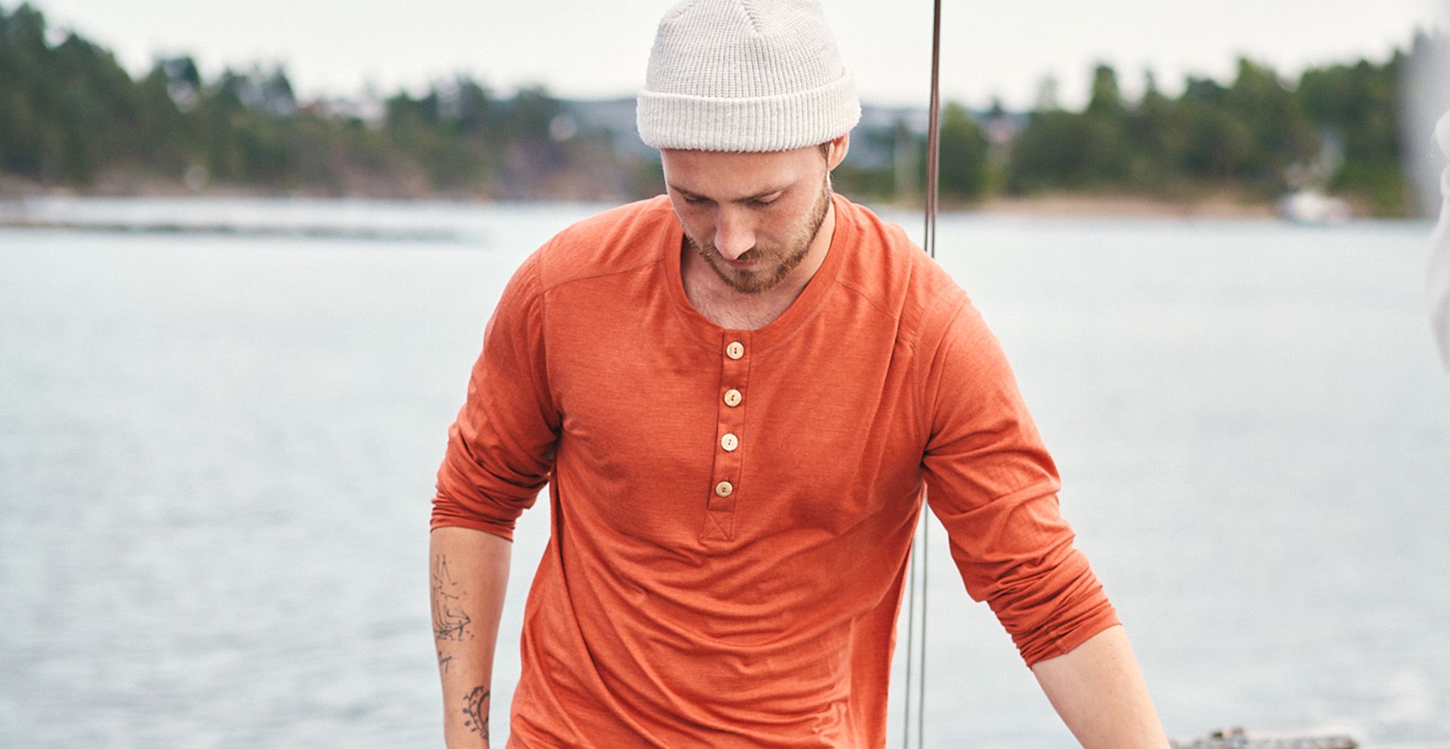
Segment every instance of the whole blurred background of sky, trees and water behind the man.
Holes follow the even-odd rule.
[[[661,191],[632,96],[667,4],[0,0],[0,746],[441,745],[447,426],[513,268]],[[826,14],[864,103],[835,188],[919,232],[931,7]],[[1450,746],[1447,32],[945,10],[938,261],[1172,736]],[[1074,746],[944,540],[927,746]]]

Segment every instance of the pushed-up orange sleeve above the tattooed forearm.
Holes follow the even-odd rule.
[[[448,429],[432,527],[512,539],[515,520],[548,481],[560,417],[545,371],[536,258],[515,272],[486,327],[467,401]]]

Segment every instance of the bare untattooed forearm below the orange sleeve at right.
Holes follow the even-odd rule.
[[[1032,665],[1037,682],[1085,749],[1164,749],[1169,739],[1121,626]]]

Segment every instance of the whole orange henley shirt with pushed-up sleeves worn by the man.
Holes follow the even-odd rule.
[[[512,537],[550,485],[510,748],[880,748],[924,488],[1034,664],[1115,624],[1002,351],[895,225],[835,197],[800,297],[700,316],[664,197],[515,274],[432,526]]]

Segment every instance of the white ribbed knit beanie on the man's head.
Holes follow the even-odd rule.
[[[654,148],[789,151],[861,119],[816,0],[683,0],[660,20],[635,119]]]

